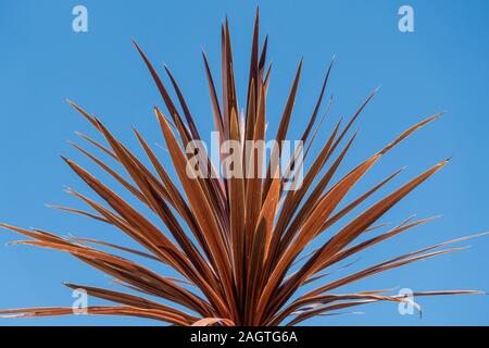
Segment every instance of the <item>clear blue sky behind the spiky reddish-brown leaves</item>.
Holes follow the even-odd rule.
[[[77,4],[88,9],[88,33],[72,29],[72,9]],[[414,9],[415,33],[398,29],[402,4]],[[442,219],[368,250],[353,270],[489,229],[486,0],[0,0],[0,221],[130,245],[113,228],[46,208],[47,203],[83,207],[63,191],[65,186],[96,197],[59,157],[65,154],[89,170],[96,169],[66,142],[80,142],[74,130],[92,136],[95,132],[65,99],[101,117],[136,153],[141,151],[131,125],[151,144],[163,144],[152,114],[152,105],[161,105],[162,101],[130,44],[135,38],[160,71],[163,63],[168,64],[198,126],[209,133],[212,116],[200,50],[208,53],[218,79],[220,25],[228,15],[242,104],[256,5],[262,39],[263,34],[269,35],[268,59],[274,65],[267,102],[271,132],[275,133],[301,57],[304,69],[291,139],[305,125],[329,60],[335,54],[337,59],[327,91],[334,95],[334,104],[313,147],[316,153],[334,122],[351,116],[368,94],[380,87],[355,125],[360,134],[340,174],[423,117],[448,111],[381,159],[349,196],[351,199],[408,165],[400,177],[374,197],[379,199],[430,165],[453,157],[448,166],[381,222],[396,224],[413,213],[418,217],[442,214]],[[171,165],[164,150],[155,149]],[[106,179],[100,170],[95,173]],[[110,278],[67,254],[25,246],[4,247],[16,237],[0,233],[0,308],[71,306],[74,299],[62,285],[64,281],[111,287]],[[471,246],[468,250],[387,272],[339,291],[397,286],[414,290],[489,290],[489,238],[462,244],[466,245]],[[359,308],[365,312],[362,315],[316,318],[306,324],[489,324],[487,296],[422,298],[418,302],[424,308],[423,319],[400,315],[396,304],[383,303]],[[89,304],[97,303],[103,301],[89,299]],[[0,325],[148,324],[155,323],[84,315],[0,321]]]

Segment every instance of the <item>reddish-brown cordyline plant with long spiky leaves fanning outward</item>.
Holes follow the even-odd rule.
[[[265,66],[266,38],[262,48],[259,47],[258,18],[256,13],[247,103],[241,117],[238,117],[238,97],[227,21],[222,26],[221,101],[209,62],[203,54],[212,113],[221,141],[239,140],[242,142],[243,140],[265,139],[265,104],[271,70],[269,66],[267,69]],[[153,170],[143,164],[141,159],[138,159],[118,141],[97,117],[71,102],[103,136],[109,147],[85,135],[79,134],[80,137],[118,162],[130,181],[116,173],[114,169],[91,152],[77,145],[74,146],[148,207],[155,216],[161,219],[164,228],[156,226],[151,222],[152,217],[145,216],[137,211],[96,176],[65,158],[66,163],[100,196],[108,207],[68,189],[70,194],[79,198],[95,212],[64,207],[55,208],[113,225],[137,241],[145,251],[106,241],[75,237],[63,238],[40,229],[26,231],[7,224],[1,225],[32,238],[30,240],[15,241],[16,244],[68,252],[112,276],[117,284],[140,294],[136,296],[92,286],[66,284],[74,289],[83,288],[90,296],[118,303],[117,306],[88,307],[87,313],[141,316],[174,325],[293,325],[315,315],[331,315],[360,304],[377,301],[412,301],[400,295],[385,295],[388,290],[355,294],[337,294],[335,290],[390,269],[461,250],[462,248],[443,247],[474,237],[446,241],[374,264],[335,281],[327,281],[331,270],[337,269],[340,262],[431,220],[413,221],[408,219],[386,233],[355,243],[366,232],[380,227],[381,225],[375,225],[380,216],[439,171],[448,161],[442,161],[369,206],[356,217],[344,222],[336,234],[330,228],[396,177],[400,171],[380,181],[356,199],[341,204],[347,194],[362,176],[385,153],[415,130],[436,120],[439,114],[405,130],[335,183],[331,183],[333,177],[355,137],[355,135],[348,136],[348,132],[375,92],[367,98],[347,125],[342,127],[341,122],[336,125],[326,144],[312,161],[311,167],[304,170],[302,185],[296,190],[285,189],[284,175],[272,175],[278,167],[274,169],[269,163],[263,164],[261,161],[256,161],[256,157],[248,157],[244,153],[238,154],[243,167],[251,166],[251,161],[253,161],[255,174],[266,171],[267,175],[264,178],[259,175],[244,178],[224,178],[220,175],[189,177],[187,173],[189,156],[184,148],[189,141],[201,139],[195,119],[170,70],[166,69],[166,73],[175,89],[181,111],[177,109],[175,100],[171,98],[145,53],[137,45],[136,48],[154,78],[168,111],[170,117],[165,116],[160,109],[154,109],[183,191],[178,189],[179,185],[171,178],[163,163],[136,129],[134,130],[136,137]],[[331,65],[333,63],[327,70],[317,102],[301,137],[306,145],[304,158],[311,156],[311,144],[324,120],[323,116],[316,122]],[[301,67],[302,63],[297,70],[278,124],[275,135],[277,141],[286,139]],[[341,145],[343,140],[344,146]],[[339,149],[340,147],[342,148]],[[335,154],[336,150],[338,150],[338,154]],[[204,158],[210,171],[214,171],[214,174],[220,171],[221,163],[212,163],[206,154]],[[296,160],[297,158],[293,157],[289,162],[288,171],[292,171]],[[342,208],[339,208],[340,204]],[[328,236],[326,243],[318,240],[318,237],[325,235]],[[89,245],[112,248],[162,262],[175,270],[181,277],[175,278],[158,274],[147,266]],[[310,251],[313,245],[319,245],[319,247]],[[309,285],[308,288],[305,288],[306,285]],[[303,295],[299,296],[299,290],[303,290],[301,291]],[[415,293],[414,296],[478,293],[468,290],[426,291]],[[165,304],[154,299],[147,299],[145,296],[164,300]],[[414,302],[412,304],[417,306]],[[2,310],[0,314],[30,318],[63,315],[72,312],[71,307],[54,307]]]

